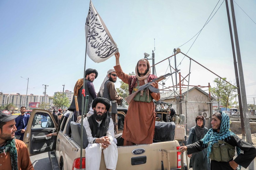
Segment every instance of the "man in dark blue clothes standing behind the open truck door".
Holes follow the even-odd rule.
[[[26,107],[21,107],[21,115],[19,115],[17,118],[15,118],[15,126],[17,128],[17,132],[15,132],[15,135],[21,136],[20,140],[23,140],[24,132],[27,129],[28,125],[28,119],[30,118],[29,114],[26,114]]]

